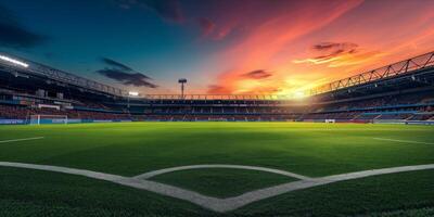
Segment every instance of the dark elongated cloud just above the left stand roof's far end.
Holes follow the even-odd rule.
[[[157,88],[158,86],[151,82],[151,78],[142,73],[135,72],[131,67],[116,62],[114,60],[102,58],[101,62],[108,65],[103,69],[99,69],[95,73],[103,75],[113,80],[117,80],[125,86],[135,86],[135,87],[148,87],[148,88]]]

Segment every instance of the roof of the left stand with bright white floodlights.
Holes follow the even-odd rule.
[[[68,84],[85,90],[98,91],[104,94],[123,97],[128,94],[127,91],[104,85],[91,79],[87,79],[71,73],[66,73],[53,67],[16,58],[10,54],[0,53],[0,68],[4,72],[13,74],[15,77],[24,75],[31,75],[37,77],[55,80],[58,82]]]

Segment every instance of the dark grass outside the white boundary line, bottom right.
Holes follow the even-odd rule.
[[[294,191],[234,210],[246,216],[432,216],[434,170],[343,181]],[[416,215],[420,214],[420,215]]]

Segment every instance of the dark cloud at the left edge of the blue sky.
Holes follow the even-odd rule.
[[[35,34],[22,26],[15,16],[1,5],[0,14],[0,47],[33,48],[47,40],[47,37]]]

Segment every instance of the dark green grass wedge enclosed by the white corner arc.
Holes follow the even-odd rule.
[[[225,199],[297,179],[264,171],[212,168],[173,171],[151,180]]]

